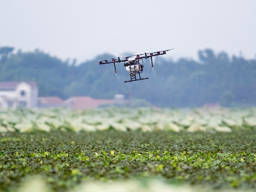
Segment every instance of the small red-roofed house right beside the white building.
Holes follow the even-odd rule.
[[[65,107],[65,103],[59,97],[39,97],[37,100],[37,107],[41,107],[41,108]]]

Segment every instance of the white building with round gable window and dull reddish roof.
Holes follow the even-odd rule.
[[[34,108],[37,97],[35,82],[0,82],[0,108]]]

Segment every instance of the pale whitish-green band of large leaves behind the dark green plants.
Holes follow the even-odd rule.
[[[0,132],[31,130],[226,131],[256,127],[256,108],[97,108],[0,111]]]

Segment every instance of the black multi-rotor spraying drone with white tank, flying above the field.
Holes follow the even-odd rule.
[[[99,64],[114,63],[114,67],[115,67],[116,63],[124,62],[125,69],[130,73],[130,77],[131,77],[130,81],[124,81],[124,82],[144,80],[144,79],[149,79],[149,77],[141,78],[140,74],[143,72],[143,67],[144,66],[143,66],[143,64],[140,63],[140,61],[142,61],[142,63],[143,63],[144,59],[150,58],[152,67],[154,67],[152,57],[157,56],[157,55],[164,55],[169,50],[172,50],[172,49],[168,49],[168,50],[165,50],[165,51],[159,51],[159,52],[131,55],[129,57],[125,57],[125,58],[121,58],[121,59],[120,59],[120,57],[118,57],[118,60],[113,58],[111,62],[109,62],[107,60],[104,60],[104,61],[100,61]],[[144,56],[141,56],[141,55],[144,55]],[[133,57],[133,56],[136,56],[136,57]],[[130,58],[130,57],[132,57],[132,58]],[[115,73],[117,73],[116,67],[115,67]],[[136,77],[136,74],[138,74],[140,78]]]

